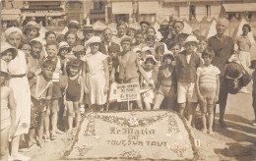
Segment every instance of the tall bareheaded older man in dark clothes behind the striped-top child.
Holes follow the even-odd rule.
[[[224,66],[227,63],[229,57],[233,54],[234,43],[231,37],[224,35],[228,21],[224,18],[221,18],[217,21],[216,30],[217,34],[208,39],[208,45],[212,47],[215,51],[215,58],[213,59],[213,65],[218,67],[221,71],[220,81],[221,81],[221,90],[220,90],[220,127],[226,128],[224,123],[224,110],[226,106],[227,99],[227,82],[224,79]]]

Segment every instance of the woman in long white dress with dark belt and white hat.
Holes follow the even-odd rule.
[[[18,27],[9,27],[5,31],[7,43],[18,48],[22,40],[22,30]],[[12,138],[11,156],[14,160],[30,160],[18,152],[21,134],[28,134],[31,123],[31,89],[27,78],[27,63],[25,53],[18,49],[18,54],[9,64],[8,71],[12,75],[9,86],[14,91],[16,102],[16,133]]]

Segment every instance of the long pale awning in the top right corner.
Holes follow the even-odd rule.
[[[256,11],[256,3],[231,3],[223,5],[227,13]]]

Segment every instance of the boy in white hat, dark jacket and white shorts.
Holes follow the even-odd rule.
[[[176,56],[177,103],[181,115],[188,108],[188,122],[191,124],[198,102],[195,89],[196,71],[203,62],[194,51],[198,43],[196,36],[189,35],[183,43],[185,50]]]

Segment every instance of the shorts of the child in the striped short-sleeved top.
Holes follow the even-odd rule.
[[[206,102],[200,101],[200,103],[214,104],[214,100],[216,97],[216,87],[199,87],[201,95],[206,99]]]

